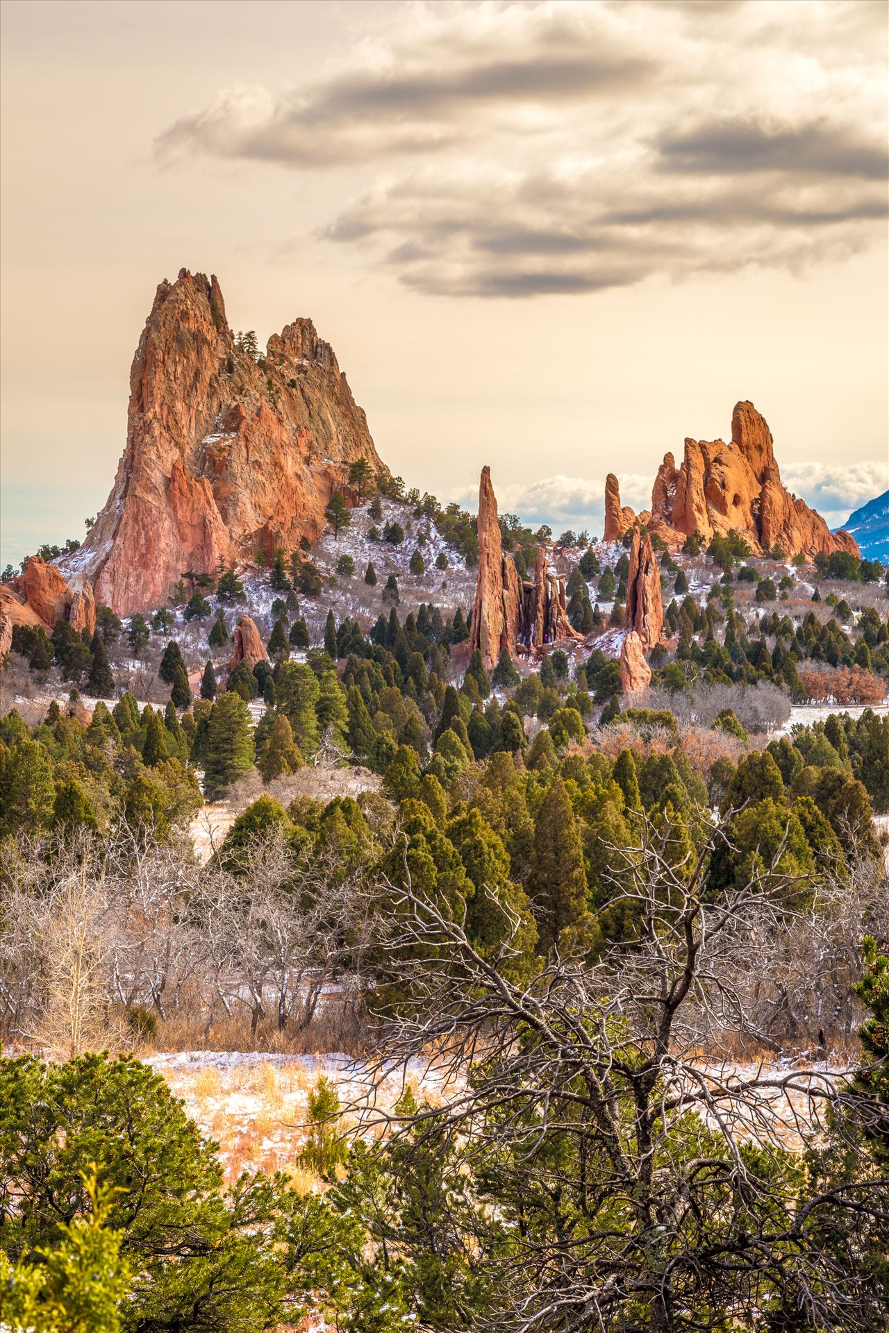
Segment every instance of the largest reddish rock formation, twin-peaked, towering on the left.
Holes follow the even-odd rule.
[[[160,284],[129,389],[115,487],[76,556],[119,615],[156,607],[184,569],[317,537],[355,460],[387,472],[312,321],[256,359],[236,345],[216,277],[181,269]]]

